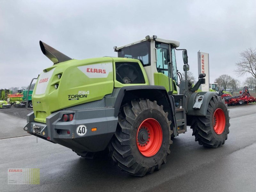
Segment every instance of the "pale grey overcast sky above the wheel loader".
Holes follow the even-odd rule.
[[[256,48],[256,1],[0,0],[0,88],[27,86],[52,62],[39,40],[74,59],[117,56],[121,46],[157,35],[180,41],[190,71],[209,53],[210,82],[234,73],[239,52]],[[181,55],[176,53],[178,69]]]

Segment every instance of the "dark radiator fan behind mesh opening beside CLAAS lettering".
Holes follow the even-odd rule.
[[[116,80],[123,84],[135,84],[139,73],[135,67],[128,64],[121,64],[116,68]]]

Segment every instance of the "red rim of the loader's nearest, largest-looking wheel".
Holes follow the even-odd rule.
[[[156,155],[163,141],[161,125],[156,119],[145,119],[137,130],[137,147],[140,153],[146,157]]]

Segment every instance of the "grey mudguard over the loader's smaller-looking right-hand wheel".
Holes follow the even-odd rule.
[[[188,113],[191,116],[206,116],[208,104],[216,92],[195,92],[188,100]],[[200,98],[200,96],[202,96]],[[198,101],[199,99],[199,101]],[[202,99],[202,100],[201,100]]]

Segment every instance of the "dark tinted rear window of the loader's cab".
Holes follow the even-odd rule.
[[[144,41],[118,50],[118,57],[138,59],[142,65],[150,65],[150,42]]]

